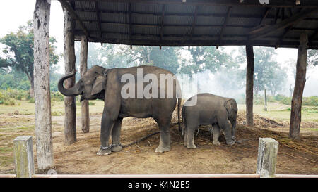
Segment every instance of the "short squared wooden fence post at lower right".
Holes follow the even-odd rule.
[[[278,142],[271,138],[259,138],[257,174],[261,178],[275,177]]]

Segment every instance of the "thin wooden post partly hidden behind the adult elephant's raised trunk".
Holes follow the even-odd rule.
[[[81,58],[80,58],[80,70],[81,77],[87,71],[87,59],[88,59],[88,41],[86,36],[81,37]],[[88,100],[84,100],[81,102],[81,110],[82,110],[82,132],[88,133],[90,132],[90,112],[88,107]]]

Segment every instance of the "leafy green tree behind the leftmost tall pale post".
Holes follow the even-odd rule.
[[[9,33],[0,39],[0,43],[6,45],[3,49],[3,53],[6,58],[1,59],[0,68],[18,70],[28,77],[30,81],[30,96],[34,96],[34,32],[33,23],[28,21],[27,25],[20,26],[18,32]],[[59,55],[55,53],[56,46],[54,44],[56,40],[54,37],[49,39],[49,60],[50,65],[54,65],[59,60]]]

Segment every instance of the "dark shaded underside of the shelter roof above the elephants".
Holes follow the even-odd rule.
[[[318,1],[73,0],[76,40],[146,46],[245,45],[292,47],[307,32],[318,49]],[[65,1],[61,0],[62,5]],[[64,6],[65,7],[65,6]]]

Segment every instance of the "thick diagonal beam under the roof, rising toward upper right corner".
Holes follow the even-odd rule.
[[[252,30],[249,32],[249,40],[254,40],[259,37],[264,37],[267,34],[271,34],[272,32],[275,32],[276,30],[284,29],[285,27],[289,27],[290,25],[293,25],[294,23],[299,22],[300,20],[303,20],[308,15],[318,11],[318,8],[309,8],[300,11],[300,13],[297,13],[290,18],[286,18],[285,20],[282,20],[280,23],[276,23],[275,25],[265,26],[261,27],[258,30]]]

